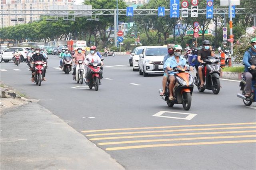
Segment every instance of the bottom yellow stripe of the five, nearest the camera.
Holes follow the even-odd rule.
[[[136,146],[123,146],[106,148],[106,150],[124,150],[124,149],[138,149],[138,148],[152,148],[152,147],[165,147],[165,146],[190,146],[190,145],[205,145],[205,144],[230,144],[230,143],[252,143],[256,140],[229,140],[229,141],[216,141],[216,142],[192,142],[192,143],[172,143],[172,144],[147,144]]]

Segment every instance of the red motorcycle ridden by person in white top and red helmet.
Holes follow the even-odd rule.
[[[87,59],[89,60],[89,59]],[[101,60],[103,61],[103,59]],[[89,75],[89,89],[92,89],[94,87],[95,91],[98,91],[99,89],[99,83],[100,83],[100,67],[101,64],[97,63],[96,61],[89,63],[88,67],[90,68],[90,75]]]

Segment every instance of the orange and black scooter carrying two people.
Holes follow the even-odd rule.
[[[194,88],[193,78],[188,73],[188,71],[190,71],[190,68],[184,65],[178,65],[177,67],[173,67],[173,71],[178,72],[174,74],[174,100],[169,100],[169,80],[166,83],[166,93],[164,94],[164,96],[162,96],[162,99],[166,101],[169,107],[173,107],[174,104],[182,104],[183,109],[188,111],[191,107],[191,95]],[[159,93],[162,93],[162,89],[159,89]]]

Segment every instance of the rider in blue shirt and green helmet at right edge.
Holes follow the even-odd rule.
[[[243,57],[244,77],[246,80],[246,94],[244,96],[247,98],[249,98],[252,93],[252,79],[256,79],[256,75],[252,75],[252,73],[250,73],[250,69],[248,68],[251,67],[252,69],[255,69],[255,65],[251,65],[250,59],[252,55],[256,55],[256,37],[252,38],[252,40],[250,40],[250,43],[252,46],[248,49],[248,51],[245,51]]]

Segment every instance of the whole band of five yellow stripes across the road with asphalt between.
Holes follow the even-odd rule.
[[[154,147],[237,144],[256,142],[256,123],[223,123],[165,127],[84,130],[92,142],[105,150]]]

